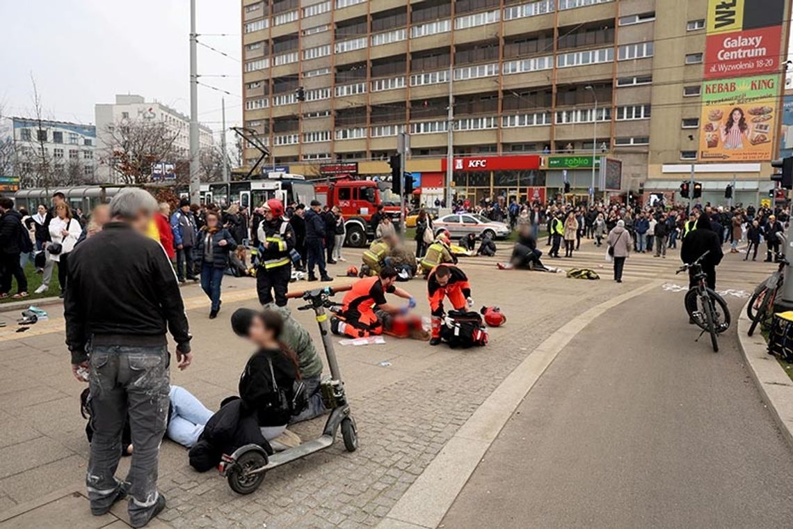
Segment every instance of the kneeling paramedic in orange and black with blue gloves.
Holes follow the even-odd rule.
[[[350,338],[364,338],[382,334],[389,326],[391,316],[404,314],[416,306],[416,300],[403,289],[394,285],[397,270],[383,266],[374,278],[359,279],[347,292],[342,301],[341,318],[331,318],[331,331]],[[385,300],[385,293],[393,293],[408,300],[408,305],[397,307]]]

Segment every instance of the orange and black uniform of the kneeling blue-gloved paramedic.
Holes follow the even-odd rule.
[[[344,320],[343,334],[350,338],[364,338],[383,332],[384,319],[389,317],[378,311],[378,305],[385,305],[385,293],[393,293],[397,288],[384,289],[379,277],[363,278],[354,283],[342,301],[339,316]]]

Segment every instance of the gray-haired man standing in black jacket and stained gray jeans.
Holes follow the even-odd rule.
[[[90,387],[91,513],[102,516],[129,495],[132,527],[144,527],[165,507],[157,493],[157,462],[169,408],[168,330],[178,368],[193,359],[176,275],[163,247],[145,236],[156,210],[145,190],[113,197],[111,221],[69,256],[63,305],[71,370]],[[127,417],[133,452],[122,482],[115,472]]]

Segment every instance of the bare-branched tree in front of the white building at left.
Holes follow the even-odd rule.
[[[99,155],[125,184],[151,181],[153,163],[174,163],[182,159],[175,143],[178,131],[162,121],[125,118],[102,134],[107,146]]]

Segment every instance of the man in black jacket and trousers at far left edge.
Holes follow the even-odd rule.
[[[28,245],[23,248],[25,241]],[[0,297],[8,297],[12,278],[17,278],[17,293],[13,297],[28,295],[28,279],[19,264],[19,256],[32,249],[33,242],[22,225],[21,214],[13,209],[13,200],[0,197]]]

